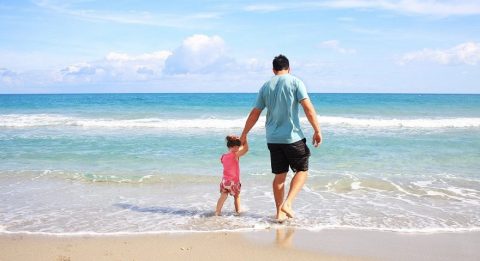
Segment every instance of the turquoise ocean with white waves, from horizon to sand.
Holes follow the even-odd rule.
[[[0,233],[480,230],[480,95],[310,94],[323,143],[285,224],[263,112],[240,163],[244,212],[230,197],[213,216],[225,136],[255,97],[0,95]]]

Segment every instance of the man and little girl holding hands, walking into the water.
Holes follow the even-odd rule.
[[[228,194],[234,197],[235,211],[240,213],[240,167],[239,159],[248,151],[247,135],[257,123],[262,111],[267,109],[266,138],[270,151],[273,179],[273,195],[276,219],[293,218],[292,204],[302,189],[308,175],[310,150],[300,127],[298,116],[301,106],[313,128],[312,144],[318,147],[322,134],[317,114],[308,97],[304,83],[290,74],[287,57],[279,55],[273,59],[273,76],[260,89],[254,108],[251,110],[240,137],[227,136],[228,152],[222,155],[223,178],[220,183],[220,198],[215,215],[220,215]],[[285,180],[288,169],[295,173],[285,198]]]

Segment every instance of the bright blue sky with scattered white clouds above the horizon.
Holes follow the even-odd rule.
[[[480,1],[0,1],[0,93],[480,93]]]

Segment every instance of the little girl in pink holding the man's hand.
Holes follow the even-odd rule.
[[[220,183],[220,198],[217,202],[215,215],[219,216],[222,212],[223,203],[232,195],[235,199],[235,212],[240,213],[240,157],[248,151],[248,143],[242,145],[240,138],[237,136],[227,136],[228,153],[222,155],[220,161],[223,164],[223,178]]]

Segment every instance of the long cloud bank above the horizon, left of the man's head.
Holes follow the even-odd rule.
[[[197,90],[192,88],[229,91],[228,88],[246,90],[249,86],[253,87],[250,91],[255,91],[256,84],[270,75],[270,59],[236,59],[227,55],[227,50],[220,36],[196,34],[184,39],[173,51],[110,52],[98,60],[57,66],[51,70],[31,70],[16,78],[21,80],[22,86],[50,86],[58,90],[65,88],[65,91],[75,91],[71,88],[76,87],[115,91],[119,86],[134,86],[135,90],[150,87],[152,91],[161,88],[169,91]],[[12,75],[7,70],[0,70],[0,73],[3,81]]]

